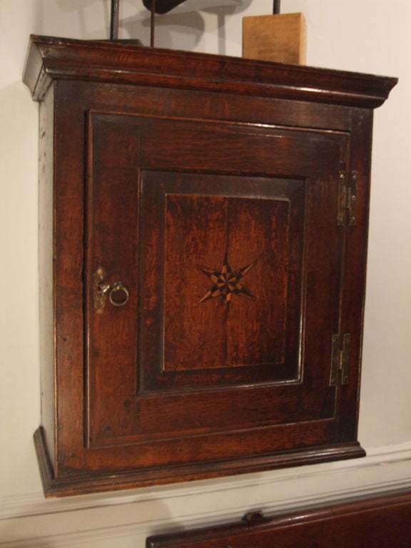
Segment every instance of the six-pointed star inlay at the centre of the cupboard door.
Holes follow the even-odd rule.
[[[207,293],[198,301],[198,304],[203,303],[205,300],[213,297],[219,297],[222,295],[225,298],[225,303],[230,303],[232,295],[238,295],[239,297],[245,297],[251,300],[255,300],[247,288],[245,288],[240,280],[250,272],[251,268],[257,263],[257,260],[253,261],[249,265],[243,266],[238,270],[232,270],[228,263],[228,253],[225,252],[223,266],[220,270],[214,270],[213,268],[207,268],[205,266],[198,266],[210,280],[213,282]]]

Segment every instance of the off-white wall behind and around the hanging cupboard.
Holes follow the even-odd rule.
[[[221,7],[225,4],[223,7]],[[241,19],[272,0],[188,0],[157,44],[240,55]],[[198,7],[208,9],[195,11]],[[220,6],[220,7],[219,7]],[[39,425],[37,104],[21,83],[29,34],[106,38],[109,0],[0,0],[0,546],[143,547],[147,534],[411,485],[411,3],[283,0],[303,11],[308,64],[399,76],[375,112],[359,439],[362,460],[45,501]],[[148,43],[148,12],[122,0],[121,36]]]

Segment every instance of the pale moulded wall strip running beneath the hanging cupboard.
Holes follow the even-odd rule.
[[[144,546],[151,534],[411,488],[411,443],[369,450],[361,460],[129,492],[44,499],[0,497],[0,547]],[[138,542],[136,540],[138,539]]]

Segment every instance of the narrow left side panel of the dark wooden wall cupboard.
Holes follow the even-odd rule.
[[[41,422],[51,462],[54,462],[54,88],[39,111],[39,274]]]

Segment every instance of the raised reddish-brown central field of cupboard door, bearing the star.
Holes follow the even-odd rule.
[[[283,363],[289,202],[170,194],[165,209],[163,370]]]

